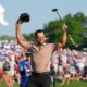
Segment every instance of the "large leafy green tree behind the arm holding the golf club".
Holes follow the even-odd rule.
[[[72,38],[74,39],[75,44],[78,46],[83,46],[87,44],[86,35],[87,35],[87,29],[86,27],[83,27],[83,23],[85,22],[85,25],[87,25],[87,18],[86,16],[82,13],[78,12],[75,15],[67,14],[66,16],[63,17],[63,21],[67,24],[69,29],[67,29],[67,35],[71,35]],[[48,24],[45,24],[44,28],[46,32],[46,35],[48,36],[48,41],[50,42],[55,42],[61,41],[62,37],[62,22],[60,20],[51,21]],[[80,33],[83,37],[80,36]],[[86,40],[85,40],[86,39]],[[67,38],[66,47],[72,47],[73,44],[70,39]],[[74,47],[74,46],[73,46]]]

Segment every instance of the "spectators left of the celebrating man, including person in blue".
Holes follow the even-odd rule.
[[[0,44],[0,70],[3,70],[5,75],[11,79],[11,82],[8,82],[8,77],[5,77],[7,79],[4,83],[7,87],[12,87],[9,86],[9,84],[13,84],[14,80],[17,80],[18,84],[22,85],[26,76],[30,75],[30,59],[27,57],[30,57],[30,53],[17,45],[16,41],[12,40],[10,42],[4,41]],[[26,75],[22,72],[24,71],[23,66],[25,67]]]

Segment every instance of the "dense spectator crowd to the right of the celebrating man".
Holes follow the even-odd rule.
[[[70,80],[87,80],[87,53],[67,49],[54,51],[52,69],[55,78],[63,79],[61,84]]]

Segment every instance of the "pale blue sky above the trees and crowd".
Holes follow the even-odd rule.
[[[0,36],[15,36],[15,22],[25,12],[30,15],[30,21],[22,24],[22,34],[44,28],[45,24],[59,18],[52,12],[53,8],[62,17],[79,11],[87,15],[87,0],[0,0],[0,4],[5,9],[4,17],[9,23],[9,26],[0,24]]]

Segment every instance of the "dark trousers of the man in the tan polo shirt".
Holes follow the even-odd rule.
[[[50,87],[51,77],[49,72],[32,73],[27,87]]]

